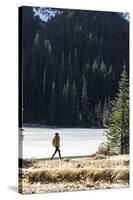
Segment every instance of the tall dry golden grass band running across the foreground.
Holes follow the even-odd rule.
[[[73,182],[73,181],[85,181],[91,178],[92,181],[98,180],[125,180],[129,179],[129,171],[127,168],[123,167],[118,169],[104,169],[104,168],[69,168],[69,169],[41,169],[34,170],[26,174],[25,178],[28,179],[30,183],[59,183],[59,182]]]

